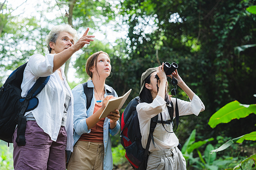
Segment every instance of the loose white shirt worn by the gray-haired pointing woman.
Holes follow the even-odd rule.
[[[58,72],[53,72],[54,56],[55,54],[48,54],[46,56],[34,54],[31,56],[24,70],[21,88],[22,96],[25,97],[28,90],[34,85],[39,77],[47,77],[51,75],[46,86],[39,94],[37,94],[37,98],[39,100],[38,106],[34,110],[27,112],[25,116],[32,113],[38,126],[44,130],[45,133],[49,134],[53,141],[56,141],[64,111],[66,90],[60,80]],[[67,110],[67,122],[65,129],[68,135],[66,150],[73,151],[73,95],[62,68],[60,68],[60,71],[65,86],[68,88],[71,95],[71,100]]]

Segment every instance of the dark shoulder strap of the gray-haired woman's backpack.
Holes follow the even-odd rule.
[[[35,84],[28,91],[28,95],[25,98],[22,110],[19,112],[19,115],[18,115],[17,138],[15,140],[18,146],[24,146],[26,144],[25,132],[26,132],[27,120],[24,114],[28,107],[29,100],[31,99],[31,97],[36,96],[42,90],[42,88],[45,87],[49,79],[50,79],[50,76],[40,77],[39,79],[37,79]]]

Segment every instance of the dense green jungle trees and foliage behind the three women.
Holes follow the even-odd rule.
[[[71,89],[88,80],[87,58],[104,51],[112,65],[106,84],[119,96],[133,89],[122,113],[139,94],[143,71],[176,62],[181,78],[205,105],[199,116],[180,117],[176,135],[187,169],[256,169],[255,134],[209,154],[228,140],[256,131],[255,111],[214,128],[208,124],[230,102],[255,107],[256,15],[248,10],[255,4],[255,0],[0,0],[0,86],[29,56],[48,54],[45,37],[54,25],[68,23],[79,36],[89,27],[95,41],[63,66]],[[189,100],[179,87],[177,97]],[[114,169],[132,169],[118,135],[112,137],[112,153]],[[8,147],[0,141],[0,169],[13,169],[12,163],[12,143]]]

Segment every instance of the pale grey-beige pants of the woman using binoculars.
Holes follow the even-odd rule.
[[[150,152],[147,160],[148,170],[185,170],[186,160],[177,147]]]

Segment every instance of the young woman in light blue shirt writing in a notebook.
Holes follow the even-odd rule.
[[[94,53],[87,60],[86,72],[90,80],[85,85],[93,90],[93,98],[88,108],[83,84],[72,89],[75,144],[67,168],[113,169],[110,134],[114,136],[119,132],[119,111],[99,119],[108,100],[117,97],[115,90],[105,84],[111,72],[109,55],[102,51]]]

